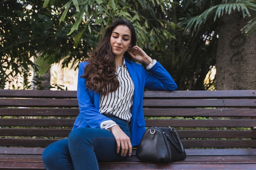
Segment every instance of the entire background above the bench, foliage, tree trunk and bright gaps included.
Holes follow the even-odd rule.
[[[0,0],[0,89],[76,90],[120,18],[178,90],[256,89],[255,0]]]

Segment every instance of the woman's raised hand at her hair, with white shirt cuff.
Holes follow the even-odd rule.
[[[132,56],[135,61],[149,65],[153,60],[146,54],[139,46],[133,46],[128,48],[127,52]]]

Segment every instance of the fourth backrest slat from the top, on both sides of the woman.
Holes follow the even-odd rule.
[[[1,126],[73,126],[75,119],[0,119]],[[254,127],[255,120],[154,120],[147,119],[146,126],[173,127]]]

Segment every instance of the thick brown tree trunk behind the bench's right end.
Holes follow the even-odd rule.
[[[256,31],[245,37],[240,29],[249,21],[233,11],[221,18],[216,53],[216,89],[256,89]]]

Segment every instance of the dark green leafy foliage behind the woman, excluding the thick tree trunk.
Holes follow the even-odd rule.
[[[164,65],[179,90],[215,89],[214,78],[204,79],[216,64],[218,18],[238,9],[247,17],[255,1],[0,0],[0,88],[33,89],[34,83],[44,89],[42,75],[52,64],[76,69],[106,26],[126,18],[138,45]],[[254,30],[255,17],[243,28]]]

